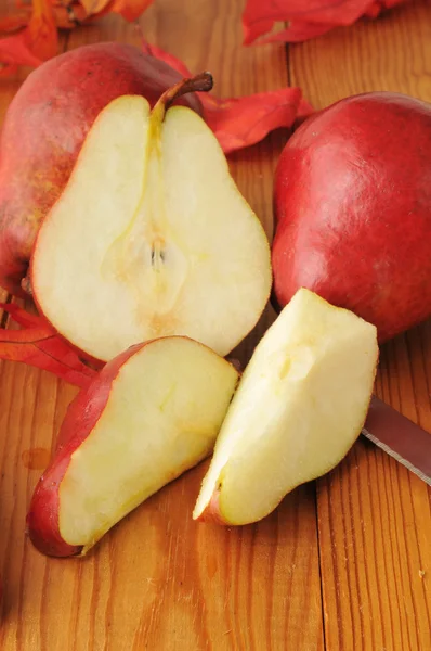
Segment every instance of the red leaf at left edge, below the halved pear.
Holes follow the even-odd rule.
[[[78,354],[41,317],[17,305],[0,303],[23,330],[0,329],[0,359],[22,361],[43,369],[77,386],[88,386],[96,371],[84,365]]]

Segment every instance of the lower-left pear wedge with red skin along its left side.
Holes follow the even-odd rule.
[[[27,515],[49,556],[84,553],[147,497],[211,454],[238,381],[182,336],[132,346],[71,403]]]

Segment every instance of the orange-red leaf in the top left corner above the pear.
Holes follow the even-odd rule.
[[[38,66],[57,53],[57,30],[50,0],[34,0],[27,27],[0,39],[0,62],[4,72],[18,65]]]

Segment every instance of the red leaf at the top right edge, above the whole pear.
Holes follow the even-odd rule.
[[[243,13],[244,43],[271,31],[274,23],[288,22],[283,31],[260,38],[260,43],[304,41],[337,26],[352,25],[362,16],[376,18],[381,11],[408,0],[248,0]]]

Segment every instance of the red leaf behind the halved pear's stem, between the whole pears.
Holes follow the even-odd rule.
[[[172,54],[145,41],[143,49],[168,63],[182,76],[191,76],[184,63]],[[205,92],[197,94],[204,106],[205,119],[225,153],[254,144],[270,131],[291,127],[297,118],[313,112],[312,106],[302,99],[299,88],[280,88],[226,100]]]

